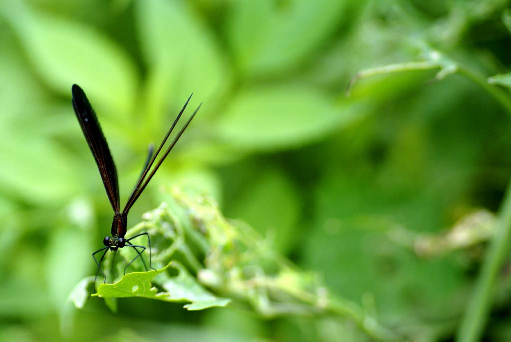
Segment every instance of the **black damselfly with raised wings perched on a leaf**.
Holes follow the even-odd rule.
[[[96,278],[98,277],[98,273],[101,271],[103,277],[105,278],[106,282],[106,276],[103,270],[101,269],[101,262],[105,258],[106,253],[108,252],[108,249],[112,251],[116,251],[119,248],[123,247],[132,247],[136,251],[136,256],[131,260],[126,267],[124,267],[124,273],[126,273],[126,268],[128,268],[129,265],[135,261],[136,258],[140,257],[142,259],[142,262],[144,264],[144,267],[147,270],[146,263],[144,261],[144,258],[142,257],[142,253],[144,250],[146,250],[145,246],[142,245],[136,245],[130,243],[131,240],[133,240],[136,237],[145,235],[148,239],[148,246],[149,246],[149,267],[154,269],[151,265],[151,240],[149,239],[149,234],[141,233],[137,234],[135,236],[132,236],[130,238],[125,238],[126,235],[126,226],[128,222],[128,212],[135,203],[135,201],[138,199],[138,197],[142,194],[146,186],[148,185],[151,178],[154,176],[158,168],[160,167],[161,163],[163,163],[164,159],[167,157],[169,152],[172,150],[174,145],[179,140],[181,134],[184,132],[184,130],[188,127],[192,119],[194,118],[195,114],[199,110],[200,104],[197,109],[193,112],[192,116],[188,121],[184,124],[184,126],[181,128],[181,130],[177,133],[174,140],[170,144],[170,146],[167,148],[163,156],[159,159],[159,161],[156,163],[156,166],[152,169],[154,161],[156,160],[156,157],[158,156],[158,153],[160,152],[161,148],[165,145],[167,142],[167,139],[169,138],[169,135],[172,133],[172,130],[176,126],[177,122],[179,121],[179,118],[181,117],[181,114],[183,113],[184,109],[187,107],[188,102],[190,101],[190,97],[188,98],[187,102],[184,104],[183,108],[177,115],[176,119],[172,123],[172,126],[170,127],[169,131],[167,132],[167,135],[165,135],[165,138],[161,142],[160,146],[156,150],[156,153],[153,154],[153,146],[149,146],[149,153],[147,156],[146,163],[144,165],[144,169],[142,170],[142,173],[140,177],[138,178],[135,187],[133,191],[131,192],[131,195],[128,198],[128,201],[126,202],[126,206],[124,207],[123,211],[120,211],[119,207],[119,185],[117,181],[117,171],[115,170],[115,164],[113,163],[112,155],[110,154],[110,149],[108,148],[108,144],[106,142],[105,136],[103,135],[103,132],[101,130],[101,126],[99,124],[98,118],[96,117],[96,113],[94,112],[94,109],[92,109],[92,106],[90,105],[89,101],[87,100],[87,97],[85,96],[85,93],[83,92],[82,88],[80,88],[78,85],[73,84],[73,87],[71,88],[71,92],[73,94],[73,108],[75,109],[76,117],[78,118],[78,122],[80,123],[80,126],[82,127],[83,134],[85,135],[85,139],[87,140],[87,144],[90,147],[90,151],[92,152],[92,155],[94,155],[94,159],[96,159],[96,164],[98,164],[99,173],[101,174],[101,178],[103,179],[103,185],[105,186],[106,194],[108,195],[108,199],[110,200],[110,204],[112,205],[113,209],[113,221],[112,221],[112,228],[111,228],[111,236],[106,236],[103,239],[103,244],[105,247],[98,249],[96,252],[92,253],[92,258],[94,258],[94,261],[96,262],[96,265],[98,266],[98,269],[96,271]],[[104,253],[101,255],[101,258],[98,260],[96,258],[96,254],[104,251]],[[95,278],[95,283],[96,283]]]

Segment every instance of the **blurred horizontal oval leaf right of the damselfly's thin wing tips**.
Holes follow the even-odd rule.
[[[242,90],[219,118],[222,141],[245,150],[277,150],[305,145],[351,122],[363,108],[306,86],[266,86]]]

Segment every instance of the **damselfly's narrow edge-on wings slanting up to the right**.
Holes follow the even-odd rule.
[[[181,109],[181,111],[177,115],[177,117],[174,120],[174,122],[172,123],[172,126],[170,127],[169,131],[165,135],[164,140],[161,142],[160,146],[158,147],[158,149],[156,150],[156,152],[152,156],[150,162],[146,164],[146,168],[145,168],[144,172],[142,172],[142,175],[140,176],[140,178],[138,179],[138,181],[137,181],[137,183],[135,185],[135,189],[133,189],[133,192],[131,193],[131,196],[129,197],[128,202],[126,203],[126,207],[124,207],[124,210],[123,210],[123,213],[122,213],[123,216],[127,216],[128,215],[128,212],[131,209],[131,206],[133,206],[135,201],[138,199],[138,196],[140,196],[142,194],[142,192],[144,191],[144,189],[147,187],[147,185],[149,184],[149,181],[154,176],[154,174],[156,173],[156,171],[160,167],[161,163],[163,163],[163,161],[165,160],[165,158],[167,157],[169,152],[172,150],[174,145],[176,145],[177,141],[179,140],[179,138],[183,134],[184,130],[187,129],[188,125],[190,124],[192,119],[195,117],[195,114],[197,113],[197,111],[199,110],[200,106],[202,105],[202,103],[201,103],[197,107],[197,109],[195,109],[195,111],[190,116],[188,121],[184,124],[184,126],[181,128],[181,130],[177,133],[177,135],[175,136],[174,140],[172,141],[170,146],[165,151],[164,155],[159,159],[158,163],[156,163],[156,166],[154,167],[154,169],[151,171],[151,173],[149,173],[149,175],[147,175],[147,173],[151,169],[154,161],[156,160],[156,157],[158,156],[158,153],[160,152],[161,148],[167,142],[167,139],[169,138],[170,133],[172,133],[172,130],[176,126],[177,122],[179,121],[179,118],[181,117],[181,114],[183,113],[184,109],[187,107],[188,102],[190,101],[191,97],[192,97],[192,95],[190,95],[190,97],[188,98],[187,102],[184,104],[183,108]]]

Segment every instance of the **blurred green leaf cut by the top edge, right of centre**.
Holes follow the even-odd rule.
[[[273,0],[233,2],[228,35],[242,72],[282,72],[326,41],[346,2]]]

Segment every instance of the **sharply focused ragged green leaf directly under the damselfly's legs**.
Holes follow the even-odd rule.
[[[154,280],[169,267],[177,269],[178,276]],[[152,281],[165,291],[158,291],[151,284]],[[226,306],[230,302],[230,299],[219,298],[206,291],[181,264],[175,261],[156,271],[132,272],[114,284],[101,284],[98,293],[93,295],[103,298],[142,297],[165,302],[190,302],[184,306],[188,310]]]

